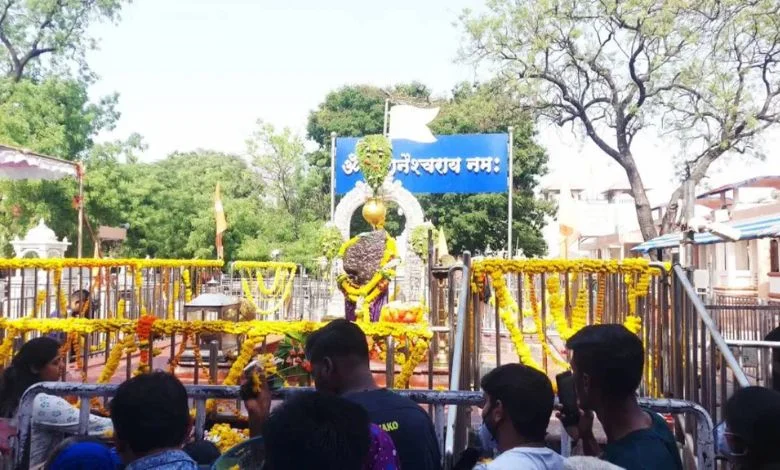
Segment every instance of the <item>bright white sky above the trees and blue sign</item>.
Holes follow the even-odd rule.
[[[242,153],[257,119],[305,134],[309,112],[346,84],[417,80],[437,94],[473,80],[458,63],[464,8],[484,0],[135,0],[117,25],[99,24],[88,61],[100,76],[92,96],[120,94],[122,116],[102,140],[140,133],[144,160],[198,148]],[[622,180],[593,144],[568,129],[538,126],[550,177]],[[770,135],[761,164],[721,162],[711,185],[780,175]],[[670,145],[638,139],[635,157],[648,186],[674,183]],[[772,158],[774,156],[774,158]],[[605,176],[606,175],[606,176]],[[595,177],[598,176],[598,177]],[[595,178],[594,178],[595,177]]]

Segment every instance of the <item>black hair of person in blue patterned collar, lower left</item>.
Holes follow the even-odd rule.
[[[184,444],[190,427],[187,390],[171,374],[141,374],[122,383],[111,401],[118,440],[135,454]]]

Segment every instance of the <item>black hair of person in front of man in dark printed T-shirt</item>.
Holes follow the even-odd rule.
[[[361,470],[371,445],[368,413],[357,403],[300,392],[263,425],[266,468]]]

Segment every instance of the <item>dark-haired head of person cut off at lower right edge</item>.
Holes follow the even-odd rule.
[[[721,425],[716,438],[730,460],[743,468],[780,464],[780,392],[740,389],[726,402],[724,417],[725,429]]]

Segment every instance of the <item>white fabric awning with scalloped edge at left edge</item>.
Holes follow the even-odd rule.
[[[78,175],[76,162],[0,145],[0,179],[58,180]]]

